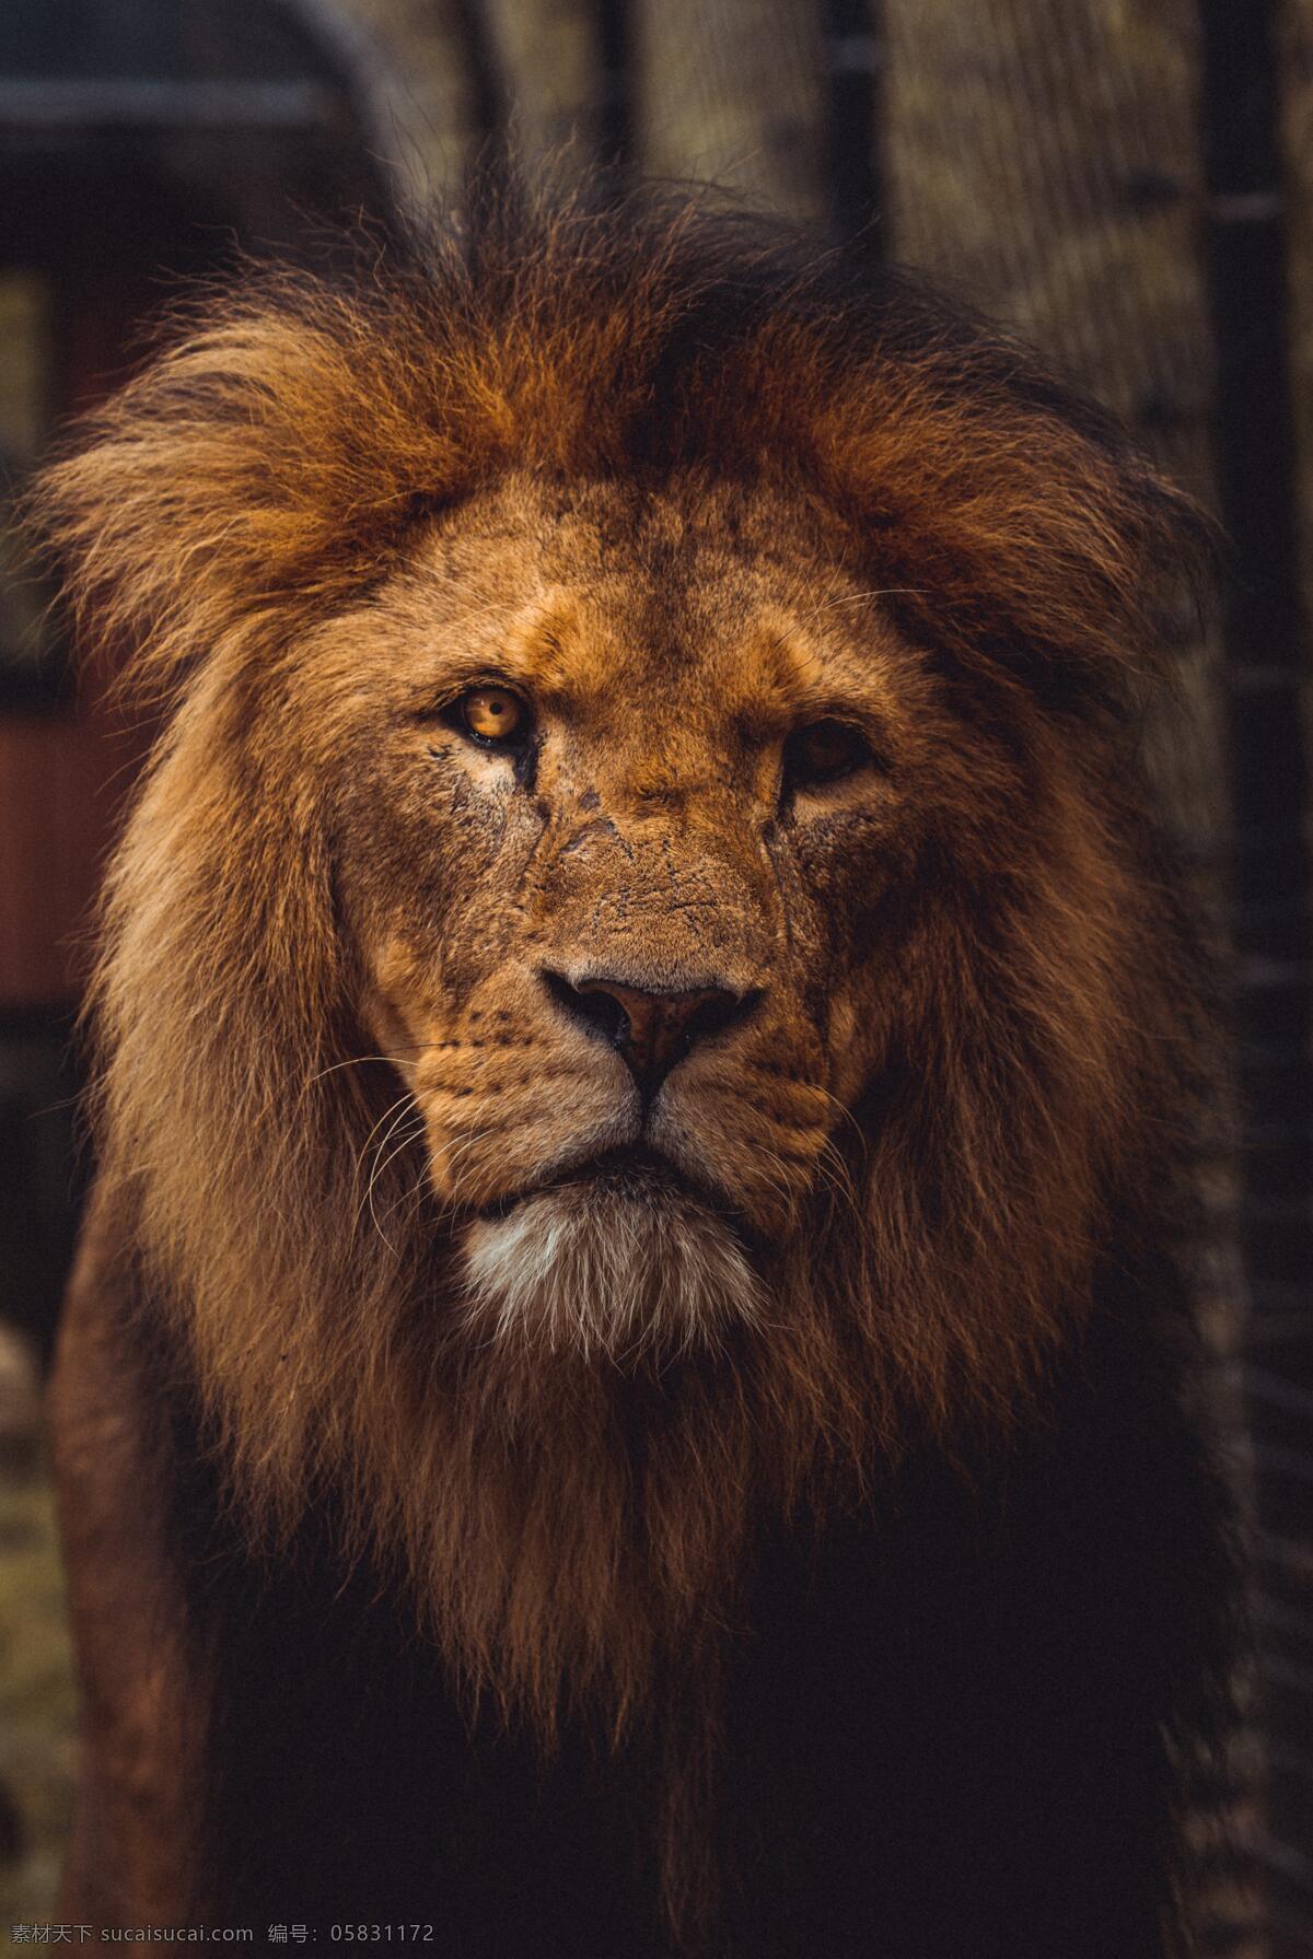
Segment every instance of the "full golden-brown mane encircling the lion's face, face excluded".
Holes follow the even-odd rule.
[[[372,1150],[396,1087],[355,1025],[288,703],[316,625],[433,509],[508,470],[698,468],[841,511],[1009,768],[945,791],[898,1052],[764,1332],[527,1365],[443,1316],[417,1144]],[[35,523],[84,637],[167,709],[104,899],[96,1132],[253,1540],[331,1499],[470,1698],[545,1740],[568,1708],[619,1732],[662,1681],[713,1710],[754,1524],[856,1503],[909,1434],[970,1459],[1029,1418],[1115,1232],[1131,1260],[1174,1211],[1197,1019],[1127,729],[1197,513],[900,276],[698,204],[492,200],[333,282],[204,300]],[[670,1744],[672,1787],[713,1724]],[[694,1890],[696,1828],[670,1828]]]

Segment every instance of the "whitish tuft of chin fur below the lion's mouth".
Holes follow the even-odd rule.
[[[472,1224],[464,1293],[476,1338],[613,1360],[715,1346],[762,1307],[739,1240],[700,1203],[584,1183]]]

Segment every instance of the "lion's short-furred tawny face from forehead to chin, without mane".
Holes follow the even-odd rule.
[[[711,1334],[843,1175],[935,713],[841,550],[760,492],[519,482],[317,648],[380,1134],[417,1109],[502,1332]]]

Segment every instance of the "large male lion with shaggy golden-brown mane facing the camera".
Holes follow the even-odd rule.
[[[63,1916],[1184,1951],[1193,505],[905,276],[504,198],[202,298],[37,523],[161,725]]]

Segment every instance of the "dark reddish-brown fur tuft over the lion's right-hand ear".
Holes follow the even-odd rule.
[[[898,304],[898,345],[837,353],[802,433],[903,609],[1041,686],[1117,695],[1158,672],[1217,578],[1209,515],[1029,349],[915,286]],[[764,400],[784,372],[764,351]]]

